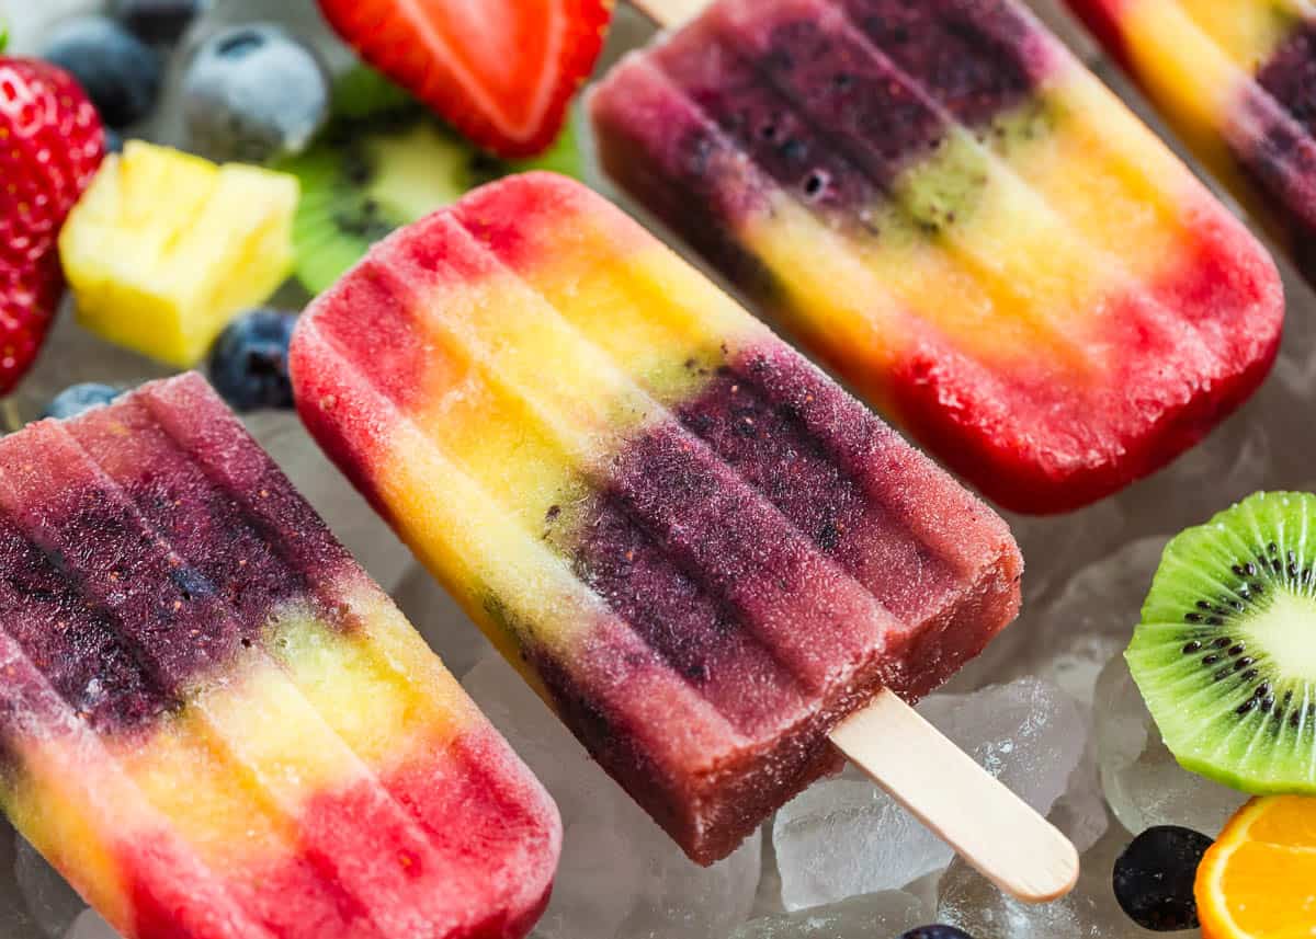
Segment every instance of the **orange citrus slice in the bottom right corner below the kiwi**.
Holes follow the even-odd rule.
[[[1254,798],[1198,868],[1204,939],[1316,936],[1316,797]]]

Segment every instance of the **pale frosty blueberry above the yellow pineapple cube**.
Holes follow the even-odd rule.
[[[315,53],[279,26],[226,29],[188,66],[183,116],[193,149],[212,159],[299,154],[329,116],[329,78]]]

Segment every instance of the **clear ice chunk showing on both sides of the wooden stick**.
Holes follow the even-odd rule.
[[[1079,705],[1037,679],[933,694],[919,710],[1044,814],[1066,790],[1087,739]],[[899,889],[945,868],[953,856],[853,767],[786,805],[772,843],[787,910]]]

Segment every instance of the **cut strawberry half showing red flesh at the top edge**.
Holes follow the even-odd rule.
[[[594,70],[615,0],[320,0],[361,55],[478,146],[533,156]]]

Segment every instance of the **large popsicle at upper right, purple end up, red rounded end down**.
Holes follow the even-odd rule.
[[[1278,349],[1262,249],[1007,0],[720,0],[592,113],[609,174],[1009,508],[1152,472]]]

